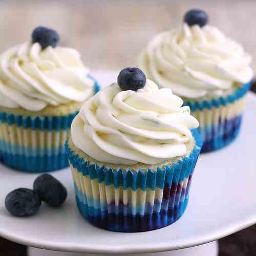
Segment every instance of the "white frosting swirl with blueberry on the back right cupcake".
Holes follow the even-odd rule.
[[[249,82],[251,57],[207,22],[205,12],[191,10],[180,28],[155,36],[139,59],[147,77],[190,99],[222,96]]]

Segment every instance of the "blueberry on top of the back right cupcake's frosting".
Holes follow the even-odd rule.
[[[186,12],[184,22],[189,26],[198,25],[203,27],[208,23],[208,14],[200,9],[192,9]]]

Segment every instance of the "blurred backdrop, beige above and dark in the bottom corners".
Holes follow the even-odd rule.
[[[48,26],[60,44],[80,51],[91,69],[133,66],[155,34],[176,28],[191,8],[204,9],[210,24],[241,42],[256,73],[256,0],[0,0],[0,52],[28,41]],[[220,256],[256,255],[256,226],[220,240]],[[0,255],[26,256],[26,247],[0,238]]]

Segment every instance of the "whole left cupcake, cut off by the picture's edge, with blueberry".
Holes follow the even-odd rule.
[[[31,41],[0,56],[0,158],[11,168],[67,167],[71,122],[99,90],[79,53],[57,47],[58,39],[56,31],[38,27]]]

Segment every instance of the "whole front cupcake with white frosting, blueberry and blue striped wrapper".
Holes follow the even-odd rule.
[[[177,221],[201,150],[199,123],[168,88],[125,68],[83,104],[66,143],[76,202],[100,228],[139,232]]]

